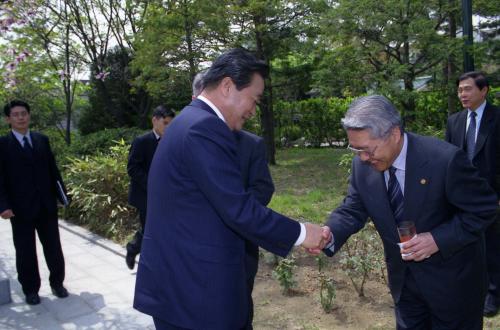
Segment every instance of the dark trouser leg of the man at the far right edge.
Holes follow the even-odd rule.
[[[500,307],[500,215],[484,234],[488,267],[488,294],[486,304]]]

